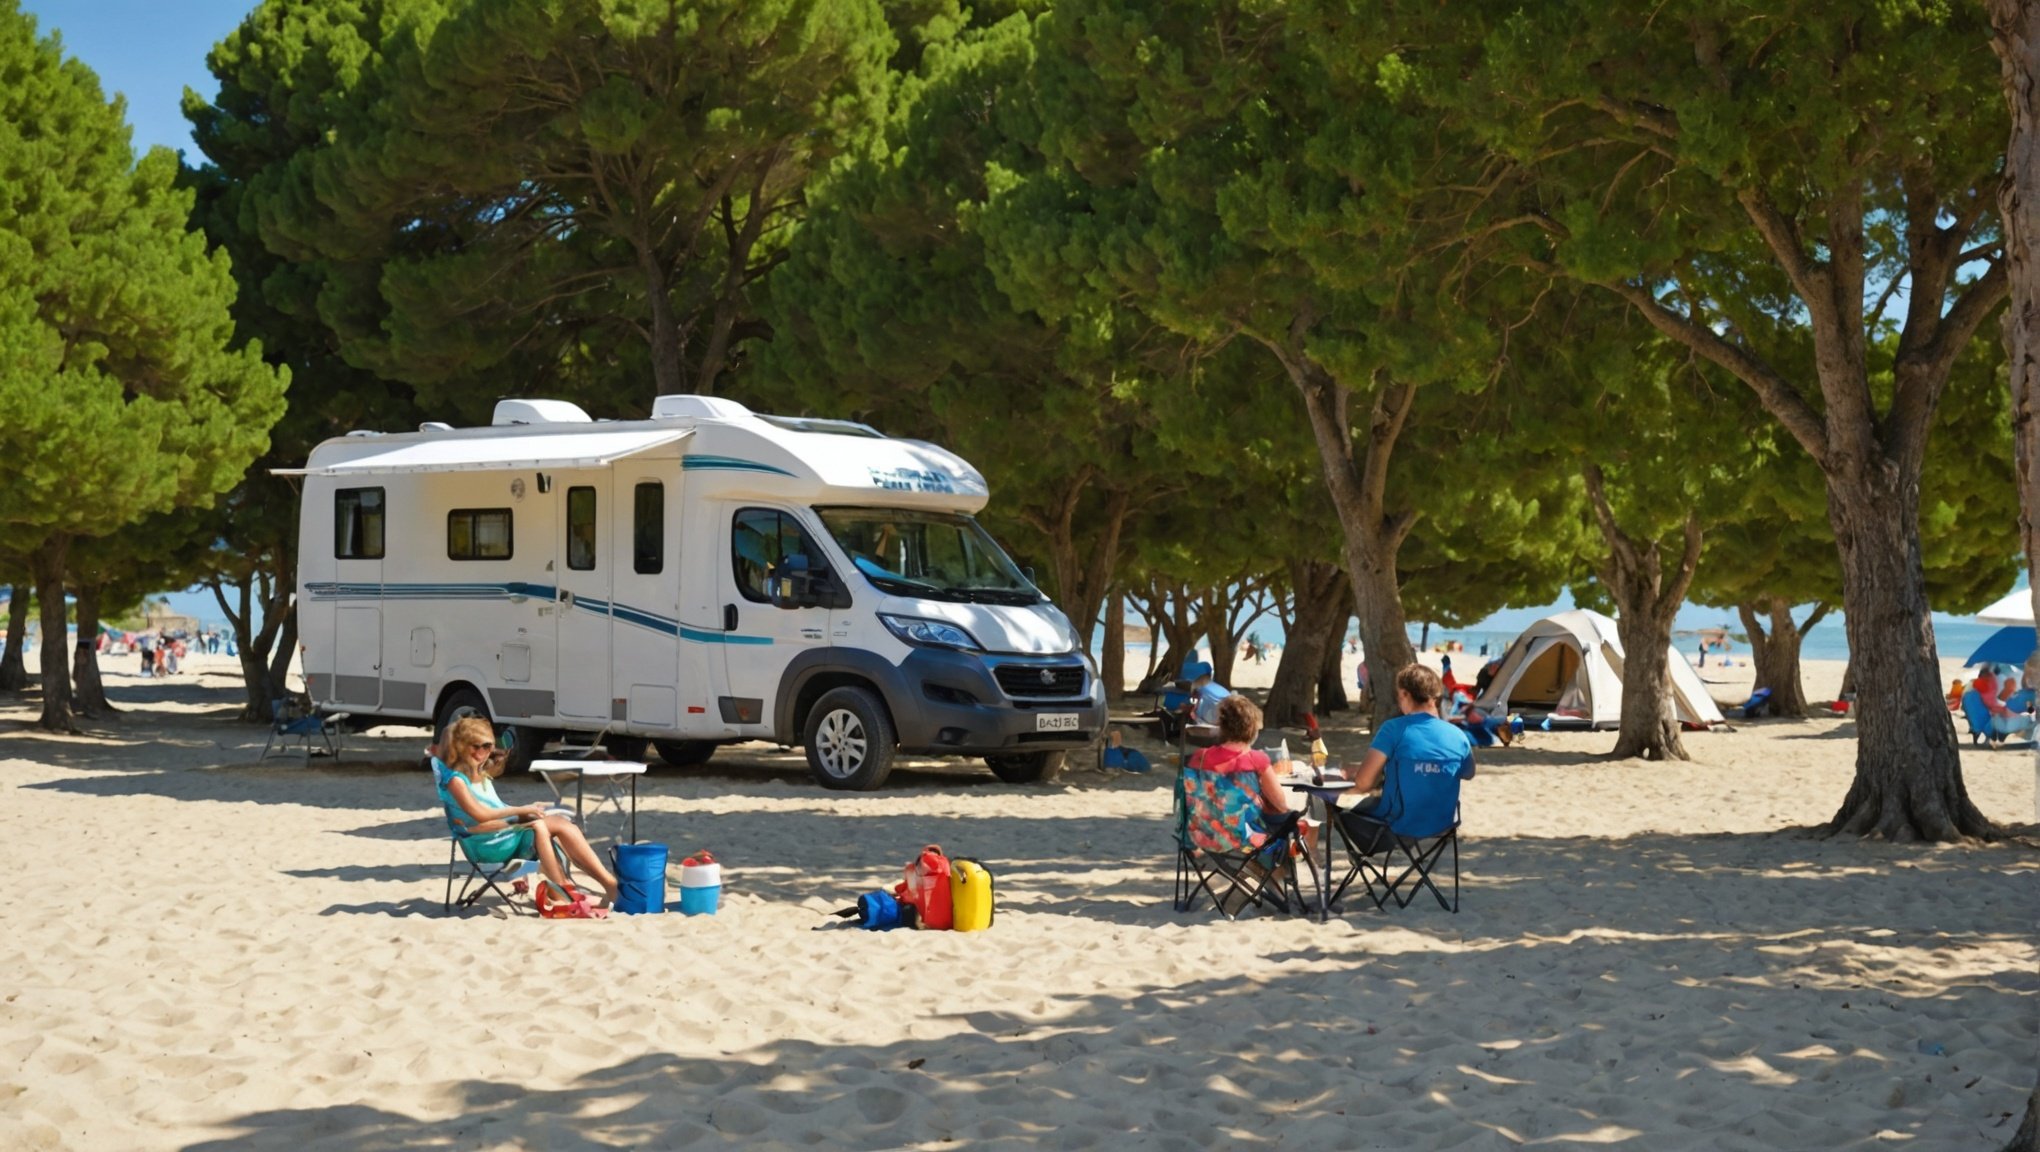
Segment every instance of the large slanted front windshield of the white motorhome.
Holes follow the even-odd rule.
[[[969,516],[904,508],[816,508],[851,565],[879,591],[973,604],[1040,604],[1040,591]]]

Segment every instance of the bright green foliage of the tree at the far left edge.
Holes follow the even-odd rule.
[[[177,159],[0,4],[0,522],[94,536],[210,504],[263,451],[288,373],[231,347],[224,253]]]

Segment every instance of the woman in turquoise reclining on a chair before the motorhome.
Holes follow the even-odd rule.
[[[496,775],[504,756],[496,756],[496,730],[488,720],[469,716],[451,728],[441,742],[447,765],[447,816],[467,838],[463,848],[475,862],[539,860],[539,871],[565,899],[567,873],[559,867],[553,844],[559,844],[596,883],[602,885],[602,905],[616,901],[616,877],[602,867],[602,856],[588,844],[581,828],[565,816],[547,816],[543,803],[504,803],[496,795]]]

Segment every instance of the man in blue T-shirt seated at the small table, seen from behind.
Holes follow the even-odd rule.
[[[1438,673],[1410,665],[1395,673],[1401,716],[1375,732],[1353,781],[1381,789],[1369,803],[1340,814],[1340,826],[1363,852],[1389,844],[1389,834],[1426,838],[1452,826],[1459,781],[1473,779],[1473,740],[1438,718]]]

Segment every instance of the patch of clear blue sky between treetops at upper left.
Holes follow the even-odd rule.
[[[253,0],[20,0],[41,33],[59,33],[65,55],[120,92],[135,126],[135,151],[165,145],[198,161],[184,90],[212,96],[206,53],[255,8]]]

